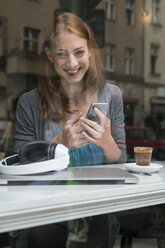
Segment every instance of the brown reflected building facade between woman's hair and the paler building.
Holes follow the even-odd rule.
[[[143,0],[105,0],[107,78],[123,93],[126,125],[143,124]]]

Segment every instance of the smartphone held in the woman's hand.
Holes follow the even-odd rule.
[[[106,102],[91,103],[91,106],[89,107],[86,118],[91,121],[96,121],[98,124],[100,124],[100,119],[94,111],[95,107],[98,108],[105,115],[108,112],[108,103]]]

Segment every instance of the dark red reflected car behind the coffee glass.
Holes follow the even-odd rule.
[[[134,161],[134,146],[153,147],[152,157],[165,160],[165,139],[158,136],[151,127],[126,126],[126,145],[128,162]]]

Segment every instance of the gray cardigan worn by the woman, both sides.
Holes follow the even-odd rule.
[[[111,120],[112,136],[121,150],[118,163],[126,162],[123,99],[120,89],[106,83],[101,92],[102,102],[109,103],[108,118]],[[39,91],[33,89],[24,93],[17,104],[15,122],[15,151],[23,144],[44,140],[44,118],[39,107]]]

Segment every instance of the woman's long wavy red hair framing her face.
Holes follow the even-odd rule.
[[[69,95],[64,91],[60,83],[60,77],[54,68],[54,64],[47,57],[46,49],[53,50],[53,40],[58,35],[58,25],[63,24],[66,31],[76,34],[87,41],[91,51],[89,68],[84,76],[82,85],[82,97],[88,93],[95,92],[103,87],[105,83],[105,73],[93,31],[78,16],[65,12],[56,16],[51,25],[51,30],[44,42],[39,75],[40,103],[44,118],[52,118],[55,121],[66,120],[71,113],[69,106]]]

